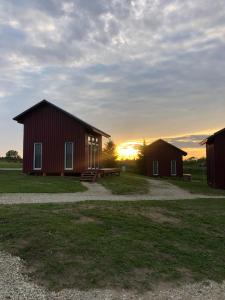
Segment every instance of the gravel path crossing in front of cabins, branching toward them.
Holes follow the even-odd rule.
[[[191,194],[169,182],[147,179],[150,192],[146,195],[112,195],[99,183],[83,183],[88,190],[78,193],[7,193],[0,194],[0,204],[18,203],[60,203],[86,200],[137,201],[137,200],[181,200],[196,198],[224,198],[224,196],[206,196]]]

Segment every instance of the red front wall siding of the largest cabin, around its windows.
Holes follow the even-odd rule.
[[[63,173],[65,142],[74,143],[74,173],[87,168],[87,136],[101,135],[87,129],[60,110],[45,105],[24,118],[23,171],[33,172],[34,143],[42,143],[43,173]],[[71,171],[68,171],[71,172]]]

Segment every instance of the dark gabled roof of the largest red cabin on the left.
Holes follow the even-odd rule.
[[[109,138],[110,135],[105,133],[104,131],[101,131],[100,129],[82,121],[81,119],[75,117],[74,115],[68,113],[67,111],[63,110],[62,108],[56,106],[55,104],[47,101],[47,100],[42,100],[40,102],[38,102],[37,104],[35,104],[34,106],[30,107],[29,109],[25,110],[24,112],[22,112],[21,114],[19,114],[18,116],[16,116],[15,118],[13,118],[13,120],[17,121],[18,123],[23,124],[23,120],[26,117],[26,115],[28,115],[30,112],[39,109],[40,107],[44,106],[44,105],[49,105],[51,107],[56,108],[57,110],[61,111],[62,113],[64,113],[65,115],[67,115],[68,117],[74,119],[75,121],[79,122],[80,124],[84,125],[87,129],[90,129],[92,131],[94,131],[95,133],[98,133],[106,138]]]

